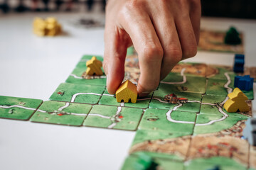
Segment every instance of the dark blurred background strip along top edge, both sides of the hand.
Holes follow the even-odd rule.
[[[202,0],[203,16],[256,18],[255,0]],[[105,11],[105,0],[0,0],[1,13]]]

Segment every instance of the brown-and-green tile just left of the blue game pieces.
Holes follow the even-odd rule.
[[[230,66],[208,64],[206,67],[206,78],[226,80],[227,76],[231,79],[235,79],[236,76]]]

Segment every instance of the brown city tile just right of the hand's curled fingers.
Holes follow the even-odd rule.
[[[181,75],[183,72],[186,76],[191,77],[206,77],[206,64],[194,62],[178,62],[176,66],[171,69],[172,75]]]

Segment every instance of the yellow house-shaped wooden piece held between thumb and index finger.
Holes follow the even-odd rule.
[[[136,103],[137,96],[137,87],[129,80],[124,81],[116,91],[117,102],[124,101],[124,103],[128,103],[131,99],[132,103]]]

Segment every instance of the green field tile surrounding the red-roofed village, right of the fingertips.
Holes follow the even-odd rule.
[[[177,111],[191,111],[199,113],[201,105],[201,94],[184,93],[172,91],[168,84],[160,84],[159,89],[154,91],[154,95],[149,103],[149,108],[173,109],[178,104],[172,104],[164,101],[164,96],[167,94],[176,94],[181,98],[188,98],[188,103],[183,103],[183,106],[178,107]]]

